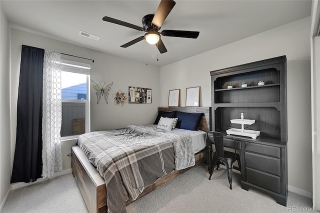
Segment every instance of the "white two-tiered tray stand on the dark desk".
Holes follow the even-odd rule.
[[[256,137],[260,135],[260,131],[244,129],[244,124],[251,125],[255,122],[255,120],[254,119],[243,119],[243,117],[244,117],[243,112],[240,112],[240,113],[241,113],[241,119],[231,119],[230,121],[231,121],[231,123],[241,124],[241,129],[229,128],[226,130],[226,133],[247,136],[247,137],[252,137],[253,139],[256,139]]]

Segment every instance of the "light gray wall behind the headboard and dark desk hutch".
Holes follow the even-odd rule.
[[[310,17],[160,67],[160,105],[169,89],[201,86],[200,105],[211,106],[211,70],[287,57],[288,184],[289,190],[311,195]]]

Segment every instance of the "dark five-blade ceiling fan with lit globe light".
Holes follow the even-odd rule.
[[[144,35],[141,35],[140,37],[137,37],[121,45],[121,47],[128,47],[140,40],[145,39],[146,42],[150,44],[156,44],[156,47],[158,48],[159,52],[164,53],[167,50],[161,40],[160,34],[163,36],[186,37],[186,38],[197,38],[199,35],[198,31],[185,31],[185,30],[164,29],[161,32],[158,32],[158,30],[161,28],[161,25],[164,19],[169,14],[169,12],[171,11],[174,5],[175,5],[174,0],[161,0],[155,14],[147,14],[143,16],[142,27],[131,24],[131,23],[127,23],[122,20],[117,20],[115,18],[107,17],[107,16],[104,16],[102,20],[146,32]]]

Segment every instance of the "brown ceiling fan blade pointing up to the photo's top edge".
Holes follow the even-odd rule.
[[[152,19],[152,24],[157,27],[160,27],[174,5],[175,5],[174,0],[161,0],[154,14],[154,17]]]

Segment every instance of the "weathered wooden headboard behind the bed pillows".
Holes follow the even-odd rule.
[[[209,131],[210,130],[210,112],[211,112],[211,107],[163,107],[160,106],[158,107],[158,111],[182,111],[182,112],[188,112],[188,113],[203,113],[203,116],[200,120],[200,124],[198,126],[198,129],[202,131]]]

